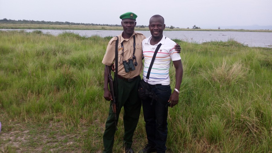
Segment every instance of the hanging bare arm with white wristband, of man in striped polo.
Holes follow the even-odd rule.
[[[183,66],[182,66],[182,63],[181,63],[181,59],[173,61],[173,64],[174,64],[175,69],[176,69],[176,85],[175,85],[175,88],[178,91],[180,91],[180,84],[181,84],[182,77],[183,77]],[[176,90],[173,90],[173,93],[171,94],[168,102],[170,102],[170,101],[171,101],[170,107],[173,107],[176,104],[178,104],[178,102],[179,102],[179,92],[177,92]]]

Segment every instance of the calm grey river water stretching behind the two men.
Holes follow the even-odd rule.
[[[22,30],[22,29],[0,29],[0,30]],[[41,30],[57,36],[64,31],[78,33],[81,36],[90,37],[99,35],[101,37],[117,36],[120,30],[46,30],[46,29],[24,29],[26,32]],[[137,31],[146,37],[151,36],[150,31]],[[164,35],[170,39],[180,39],[187,42],[203,43],[209,41],[227,41],[233,39],[249,47],[272,47],[272,32],[239,32],[239,31],[164,31]]]

